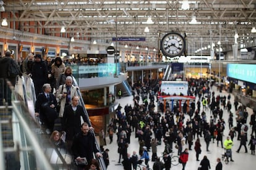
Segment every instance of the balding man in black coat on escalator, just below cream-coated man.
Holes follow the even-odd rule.
[[[72,146],[72,140],[75,134],[78,134],[81,131],[81,116],[83,121],[89,121],[85,116],[83,108],[79,105],[79,97],[74,96],[72,97],[71,104],[65,107],[62,117],[62,129],[66,132],[66,142],[68,149],[70,149]]]

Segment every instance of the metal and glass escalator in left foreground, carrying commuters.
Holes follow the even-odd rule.
[[[73,79],[75,81],[75,78]],[[80,96],[80,105],[88,118],[79,89],[77,92]],[[41,130],[35,118],[36,97],[32,79],[26,75],[17,79],[12,95],[12,106],[9,106],[11,109],[6,106],[0,107],[0,150],[4,148],[4,152],[0,153],[0,164],[6,163],[0,166],[0,169],[10,169],[7,165],[14,163],[14,158],[17,158],[17,164],[21,169],[72,169],[72,156],[66,150],[56,148],[49,142],[49,135]],[[90,122],[88,124],[91,126]],[[97,147],[100,148],[98,144]],[[101,169],[106,169],[103,158],[99,158],[98,161]]]

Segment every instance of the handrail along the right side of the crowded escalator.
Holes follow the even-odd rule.
[[[77,84],[77,81],[76,81],[76,79],[74,78],[74,76],[72,76],[72,78],[73,78],[74,86],[79,87],[79,85]],[[77,94],[79,95],[79,98],[80,98],[79,104],[82,106],[83,111],[84,111],[84,113],[85,113],[85,117],[86,117],[86,119],[88,120],[87,123],[88,123],[89,126],[92,126],[92,123],[91,123],[91,121],[90,121],[88,112],[87,112],[87,110],[86,110],[86,108],[85,108],[85,103],[83,102],[83,97],[82,97],[82,94],[81,94],[79,88],[77,88]],[[95,136],[95,132],[94,132],[94,131],[93,131],[93,135],[94,135],[94,137],[95,137],[96,148],[97,148],[98,150],[100,150],[100,147],[99,147],[98,142],[97,142],[97,140],[96,140],[96,136]],[[101,169],[102,169],[102,170],[106,170],[106,165],[105,165],[105,162],[104,162],[103,158],[98,158],[98,161],[99,161],[99,163],[100,163]]]

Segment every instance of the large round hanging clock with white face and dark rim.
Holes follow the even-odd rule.
[[[163,55],[175,57],[185,51],[186,41],[179,33],[168,33],[161,39],[160,47]]]

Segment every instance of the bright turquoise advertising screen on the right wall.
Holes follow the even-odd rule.
[[[250,83],[256,83],[256,65],[228,63],[227,76]]]

